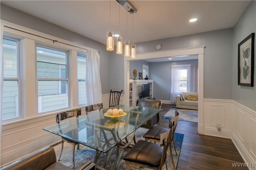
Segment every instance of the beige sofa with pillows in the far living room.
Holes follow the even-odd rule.
[[[198,93],[183,92],[177,95],[176,108],[198,110]]]

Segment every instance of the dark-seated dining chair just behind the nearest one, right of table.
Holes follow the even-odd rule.
[[[175,130],[176,130],[176,127],[177,127],[177,124],[178,124],[178,120],[179,120],[179,113],[178,113],[178,111],[175,111],[175,117],[172,117],[172,120],[169,120],[169,129],[170,129],[170,127],[173,128],[173,136],[172,136],[171,142],[173,142],[173,147],[174,147],[174,150],[175,150],[176,154],[177,154],[177,151],[176,151],[175,144],[174,144],[174,133],[175,133]],[[160,134],[163,133],[163,132],[167,132],[169,129],[168,128],[162,128],[162,127],[152,127],[143,135],[143,137],[146,140],[154,142],[154,143],[160,142]],[[172,158],[172,166],[175,169],[175,165],[174,165],[174,161],[173,161],[173,157],[172,157],[172,146],[171,146],[171,144],[170,144],[170,155],[171,155],[171,158]]]

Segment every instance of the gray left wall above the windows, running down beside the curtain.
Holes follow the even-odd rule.
[[[70,42],[85,45],[97,49],[100,52],[100,80],[102,83],[102,94],[110,91],[110,53],[106,51],[106,45],[76,34],[4,4],[0,6],[1,20],[5,20],[26,28],[30,28],[45,34],[49,34]],[[123,74],[122,74],[123,75]],[[123,83],[124,84],[124,83]]]

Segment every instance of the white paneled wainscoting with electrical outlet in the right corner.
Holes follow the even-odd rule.
[[[233,100],[204,99],[204,134],[230,138],[244,162],[256,165],[256,111]]]

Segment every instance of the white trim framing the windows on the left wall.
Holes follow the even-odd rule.
[[[38,93],[38,81],[36,81],[36,59],[35,59],[35,53],[36,53],[36,44],[40,44],[40,45],[46,45],[46,46],[50,46],[52,48],[58,48],[58,49],[62,49],[62,50],[66,50],[69,51],[70,53],[72,53],[69,57],[69,61],[72,64],[69,65],[69,67],[72,68],[72,70],[70,68],[69,74],[71,75],[70,77],[70,81],[71,81],[71,86],[70,86],[70,97],[72,98],[72,101],[70,101],[70,107],[76,109],[76,108],[80,108],[78,106],[78,102],[77,102],[77,89],[76,88],[72,88],[72,87],[76,87],[77,85],[77,71],[75,71],[75,65],[76,65],[76,57],[74,55],[76,55],[77,51],[81,51],[81,52],[86,52],[86,49],[92,49],[95,51],[98,51],[97,49],[93,49],[84,45],[80,45],[77,43],[73,43],[73,42],[69,42],[67,40],[58,38],[58,37],[54,37],[54,36],[50,36],[48,34],[44,34],[42,32],[38,32],[35,30],[32,30],[30,28],[26,28],[23,26],[19,26],[17,24],[13,24],[4,20],[0,20],[0,24],[3,26],[4,28],[4,34],[10,34],[10,35],[17,35],[18,37],[22,37],[23,41],[24,41],[24,47],[21,48],[21,53],[23,56],[26,56],[26,59],[22,59],[21,62],[21,69],[22,71],[24,71],[22,74],[22,81],[24,81],[24,85],[22,86],[22,91],[21,93],[21,97],[22,99],[20,100],[22,102],[21,107],[22,107],[22,119],[19,120],[13,120],[13,121],[6,121],[6,122],[2,122],[2,125],[9,125],[9,124],[13,124],[13,123],[17,123],[17,122],[23,122],[26,120],[31,120],[31,119],[37,119],[39,117],[47,117],[48,115],[55,115],[56,113],[59,113],[60,111],[65,111],[65,109],[61,109],[60,111],[52,111],[51,113],[47,113],[47,114],[36,114],[38,111],[37,108],[37,99],[38,96],[36,95]],[[10,27],[10,28],[8,28]],[[14,29],[12,29],[14,28]],[[20,31],[19,31],[20,30]],[[30,34],[28,34],[30,33]],[[34,34],[34,35],[32,35]],[[36,35],[36,36],[35,36]],[[44,37],[44,38],[42,38]],[[47,40],[46,38],[49,38],[50,40]],[[57,42],[53,42],[52,40],[57,40]],[[62,43],[60,43],[62,42]],[[66,44],[65,44],[66,43]],[[69,45],[67,45],[69,44]],[[23,51],[24,49],[24,51]],[[73,57],[72,57],[73,56]],[[34,63],[34,64],[31,64]],[[26,65],[26,67],[25,67]],[[26,81],[25,81],[25,77],[26,77]],[[29,89],[26,91],[26,89]],[[26,94],[26,95],[25,95]],[[35,100],[36,99],[36,100]],[[26,102],[29,101],[29,102]],[[69,109],[68,108],[68,109]],[[67,109],[66,109],[67,110]],[[26,115],[25,115],[26,113]]]

